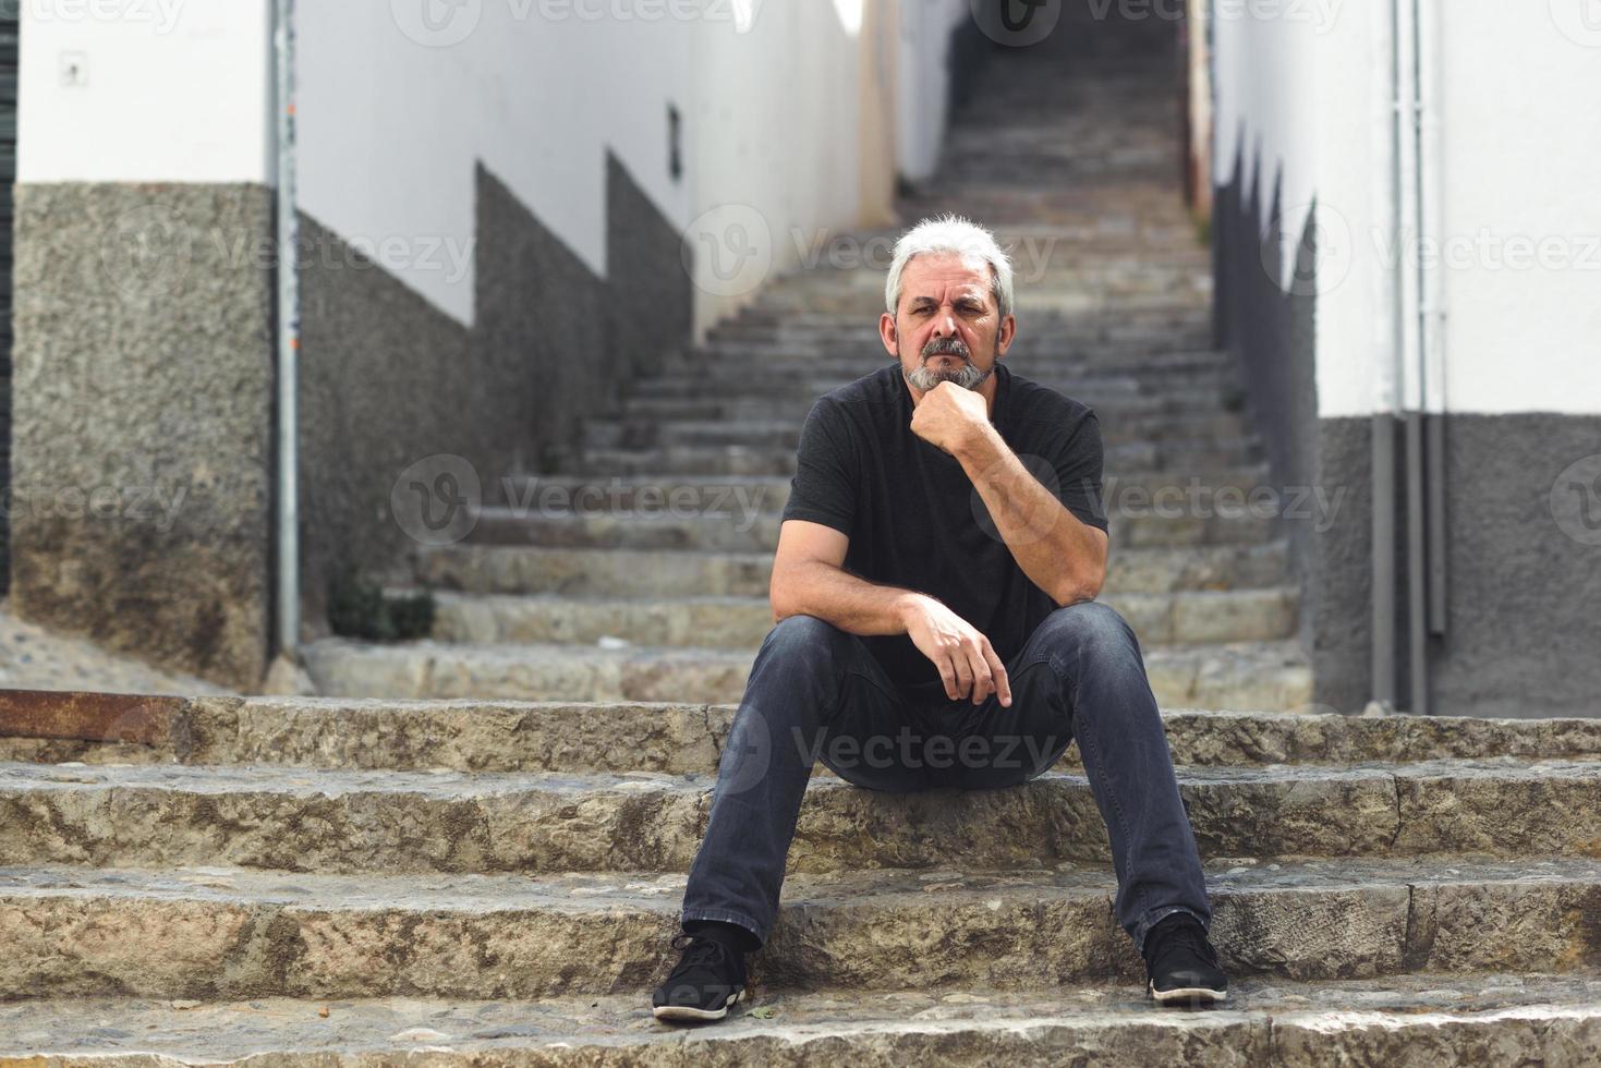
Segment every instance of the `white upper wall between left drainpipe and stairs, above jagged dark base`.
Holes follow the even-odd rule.
[[[346,239],[399,239],[391,269],[471,322],[471,256],[405,263],[407,240],[471,250],[482,159],[605,275],[610,149],[696,248],[703,330],[861,215],[863,2],[482,0],[442,32],[397,24],[387,3],[301,5],[301,205]],[[717,277],[712,247],[743,255],[746,239],[749,269]]]

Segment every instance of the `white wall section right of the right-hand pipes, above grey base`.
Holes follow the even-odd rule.
[[[1447,404],[1601,413],[1601,24],[1579,2],[1446,6],[1444,227],[1467,251],[1444,272]]]

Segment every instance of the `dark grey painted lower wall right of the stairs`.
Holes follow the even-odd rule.
[[[1241,144],[1247,139],[1241,138]],[[1318,418],[1314,375],[1316,248],[1302,235],[1290,293],[1279,287],[1274,184],[1246,175],[1215,191],[1218,343],[1233,349],[1247,412],[1270,453],[1286,503],[1302,488],[1329,508],[1286,517],[1302,580],[1302,642],[1313,701],[1359,713],[1372,693],[1372,421]],[[1266,255],[1263,253],[1266,250]],[[1396,428],[1398,442],[1401,428]],[[1590,544],[1587,501],[1563,522],[1551,488],[1564,468],[1601,453],[1601,416],[1553,413],[1447,415],[1447,632],[1430,639],[1431,711],[1457,716],[1601,716],[1601,544]],[[1406,517],[1404,453],[1396,456],[1396,514]],[[1601,524],[1601,487],[1583,490]],[[1410,703],[1406,541],[1396,546],[1398,706]]]

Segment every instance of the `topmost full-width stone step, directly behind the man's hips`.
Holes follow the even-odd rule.
[[[736,709],[671,701],[155,700],[167,724],[155,741],[0,738],[0,759],[714,775]],[[1162,725],[1174,761],[1196,767],[1601,761],[1601,719],[1166,708]],[[1069,745],[1055,767],[1079,767],[1077,745]]]

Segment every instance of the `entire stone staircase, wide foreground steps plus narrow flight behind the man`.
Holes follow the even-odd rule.
[[[1103,599],[1164,708],[1226,1007],[1142,999],[1071,746],[1004,791],[818,769],[754,1001],[711,1028],[650,1017],[770,628],[800,418],[887,359],[882,274],[829,267],[775,280],[594,421],[572,471],[419,552],[431,640],[314,645],[317,698],[147,701],[142,743],[0,738],[0,1057],[1601,1062],[1601,721],[1306,713],[1279,520],[1140,503],[1266,477],[1209,349],[1161,26],[991,69],[905,213],[1050,243],[1020,261],[1007,360],[1100,412]]]

